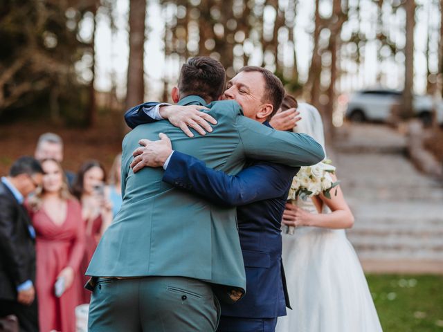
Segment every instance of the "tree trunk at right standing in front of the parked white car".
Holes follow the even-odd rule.
[[[404,118],[410,118],[413,116],[415,0],[405,1],[404,6],[406,9],[406,46],[402,111]]]

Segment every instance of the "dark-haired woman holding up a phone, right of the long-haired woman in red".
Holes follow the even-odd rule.
[[[80,167],[73,185],[73,194],[82,205],[82,220],[86,234],[86,250],[80,264],[85,284],[89,261],[96,251],[98,241],[112,221],[111,204],[105,198],[105,168],[97,160],[89,160]],[[82,303],[89,303],[91,292],[82,291]]]

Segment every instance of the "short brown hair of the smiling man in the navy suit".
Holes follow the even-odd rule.
[[[239,70],[239,73],[241,73],[242,71],[246,73],[249,73],[251,71],[262,73],[264,78],[264,96],[262,98],[262,102],[270,102],[272,104],[273,111],[269,115],[269,118],[272,118],[273,115],[278,111],[278,109],[280,109],[280,105],[282,104],[282,100],[285,94],[282,81],[280,81],[280,78],[275,76],[266,68],[257,66],[244,66]]]

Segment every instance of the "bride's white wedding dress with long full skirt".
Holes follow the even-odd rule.
[[[317,213],[311,199],[298,205]],[[382,331],[368,283],[345,230],[282,226],[283,264],[293,310],[277,332]]]

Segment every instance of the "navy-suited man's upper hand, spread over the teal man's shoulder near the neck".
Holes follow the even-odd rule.
[[[208,108],[201,105],[171,105],[161,106],[159,113],[162,118],[168,119],[175,127],[183,130],[186,135],[194,137],[188,127],[194,128],[200,135],[205,135],[206,132],[213,131],[208,122],[217,124],[217,120],[208,113],[201,112],[202,109]]]

